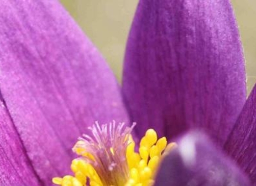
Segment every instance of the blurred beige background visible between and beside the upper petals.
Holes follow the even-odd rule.
[[[138,0],[61,0],[121,82],[127,35]],[[244,46],[247,90],[256,82],[256,1],[231,0]]]

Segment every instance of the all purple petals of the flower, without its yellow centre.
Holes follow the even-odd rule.
[[[209,136],[177,140],[156,185],[256,184],[256,89],[246,101],[228,0],[140,0],[122,94],[58,1],[2,1],[0,44],[1,185],[69,173],[71,148],[95,120],[135,121],[138,138],[149,128],[169,140]]]

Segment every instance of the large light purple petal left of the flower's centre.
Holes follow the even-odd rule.
[[[70,170],[71,147],[87,126],[127,121],[118,84],[58,1],[1,2],[0,43],[3,98],[49,185]]]

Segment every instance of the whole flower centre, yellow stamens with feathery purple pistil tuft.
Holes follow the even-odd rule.
[[[148,129],[137,152],[131,134],[134,126],[95,122],[89,128],[91,135],[84,134],[73,148],[79,156],[71,163],[74,175],[54,177],[52,182],[62,186],[153,185],[161,159],[176,143],[167,145],[165,137],[157,139],[155,130]]]

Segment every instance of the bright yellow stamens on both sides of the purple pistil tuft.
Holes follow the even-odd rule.
[[[140,140],[140,146],[138,152],[134,150],[135,142],[131,134],[126,134],[125,137],[127,141],[126,152],[125,152],[125,165],[122,165],[124,174],[120,175],[113,171],[115,168],[115,163],[109,165],[106,174],[110,176],[117,176],[117,182],[114,184],[106,185],[104,177],[106,175],[101,175],[101,172],[97,172],[97,166],[94,163],[97,159],[96,155],[91,151],[86,151],[83,148],[84,141],[79,140],[74,151],[80,158],[74,159],[71,163],[71,170],[74,175],[66,175],[64,177],[54,177],[52,182],[57,185],[62,186],[150,186],[154,184],[154,178],[157,172],[157,168],[163,156],[165,156],[170,150],[172,150],[176,143],[169,143],[167,145],[167,140],[165,137],[157,138],[155,130],[149,129],[146,134]],[[110,147],[106,156],[111,156],[108,158],[115,158],[118,151],[115,151],[115,147]],[[107,158],[107,157],[106,157]],[[115,161],[113,161],[115,162]],[[97,164],[96,164],[97,165]],[[116,165],[118,166],[118,165]],[[127,169],[127,170],[126,170]],[[123,179],[122,177],[123,176]]]

